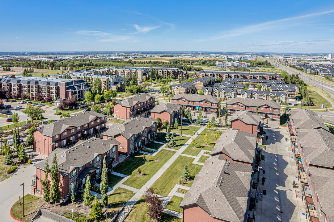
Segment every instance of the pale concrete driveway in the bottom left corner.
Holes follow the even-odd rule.
[[[24,195],[31,191],[32,176],[35,175],[36,170],[33,165],[20,166],[14,175],[2,182],[0,182],[0,209],[2,212],[1,221],[16,221],[10,216],[10,208],[13,204],[22,197],[22,186],[24,183]]]

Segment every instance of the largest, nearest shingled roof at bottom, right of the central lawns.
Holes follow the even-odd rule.
[[[243,222],[248,214],[252,166],[226,161],[221,155],[205,160],[180,207],[196,204],[210,216]]]

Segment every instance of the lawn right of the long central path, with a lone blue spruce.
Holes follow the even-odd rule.
[[[192,164],[194,158],[179,156],[170,167],[159,177],[159,179],[153,184],[154,190],[157,194],[166,197],[177,182],[181,179],[181,174],[184,168],[184,164],[187,163],[188,170],[190,172],[191,179],[185,185],[191,187],[194,177],[199,173],[202,166],[198,164]]]

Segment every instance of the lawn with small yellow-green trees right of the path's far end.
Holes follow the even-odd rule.
[[[201,134],[199,134],[196,137],[196,149],[193,149],[193,145],[189,144],[189,146],[183,151],[183,154],[188,154],[188,155],[192,155],[192,156],[197,156],[199,154],[199,152],[204,149],[204,150],[212,150],[212,148],[215,145],[215,139],[214,139],[214,135],[212,135],[211,133],[214,133],[215,130],[209,131],[209,129],[204,129]],[[204,146],[204,135],[208,134],[209,137],[209,143],[207,146]]]

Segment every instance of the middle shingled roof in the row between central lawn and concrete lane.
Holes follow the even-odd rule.
[[[256,135],[230,128],[224,130],[210,155],[224,153],[231,159],[253,163]]]

